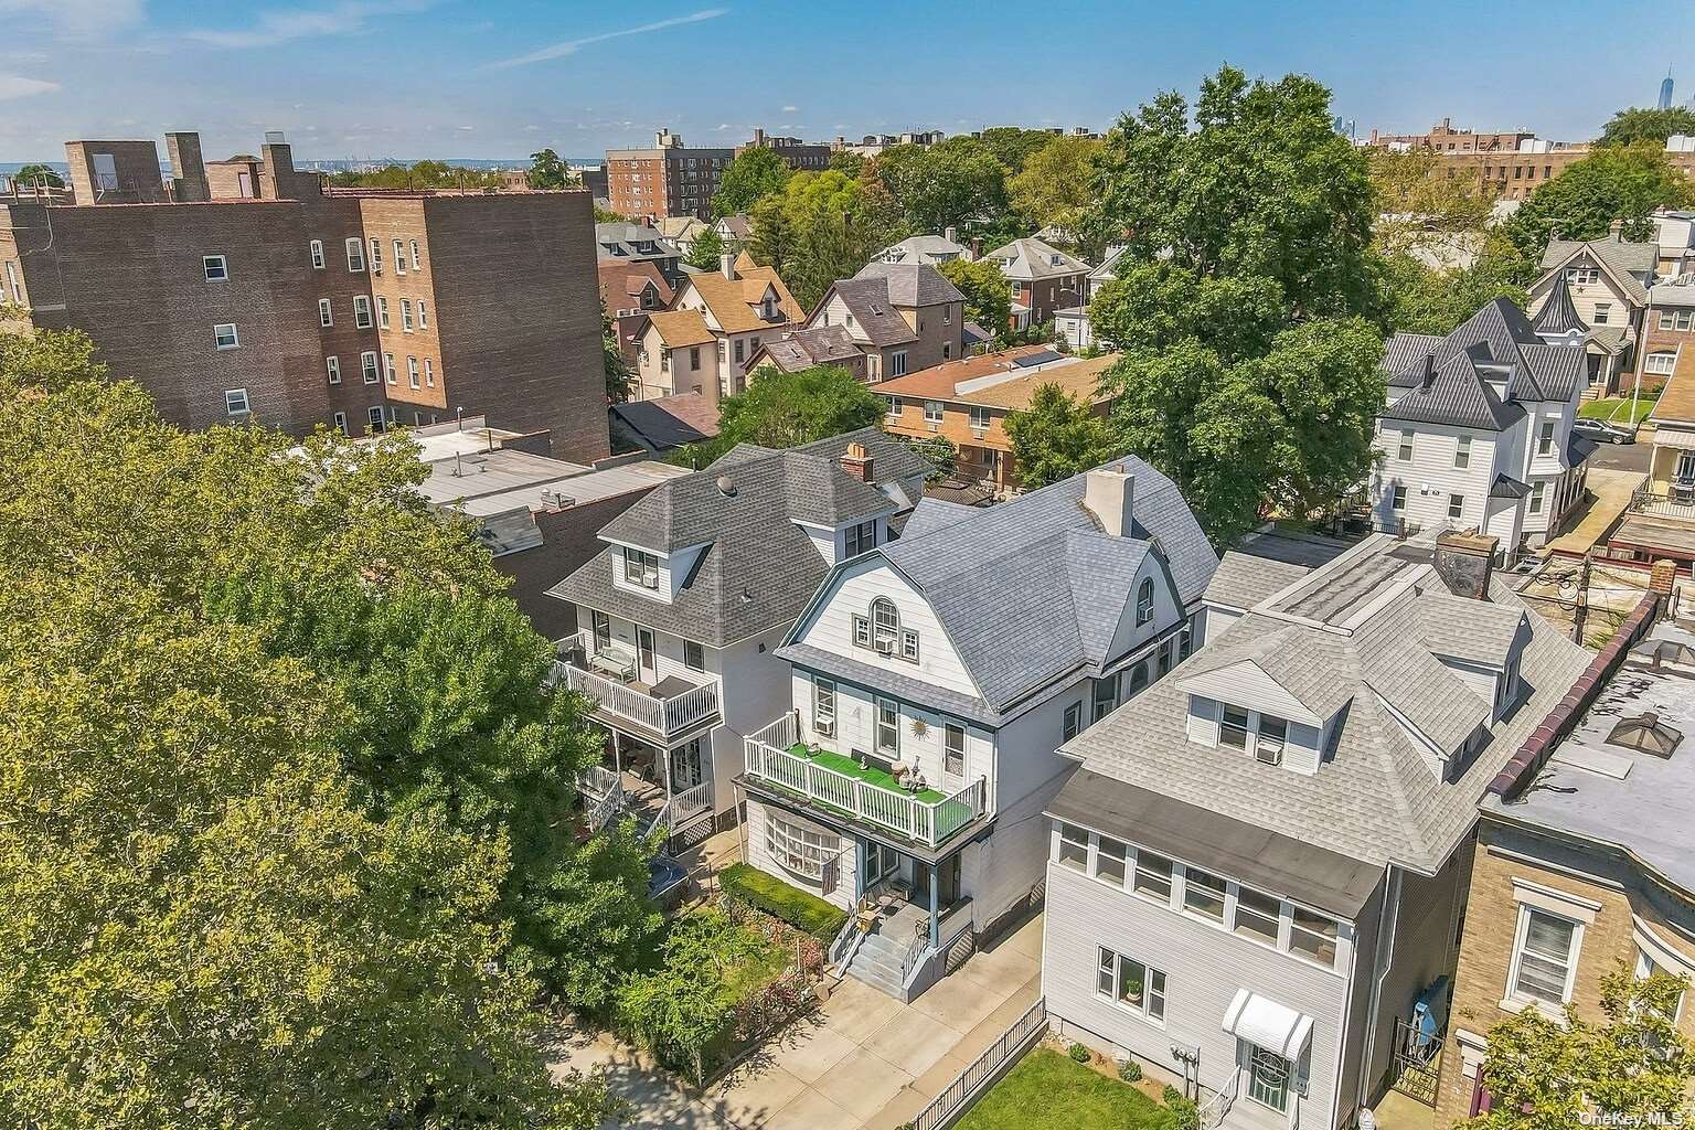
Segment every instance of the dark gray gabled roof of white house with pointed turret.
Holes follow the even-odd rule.
[[[1505,366],[1505,402],[1566,402],[1576,393],[1587,364],[1583,346],[1549,346],[1524,317],[1524,310],[1507,298],[1485,303],[1448,337],[1432,334],[1395,334],[1383,351],[1383,373],[1390,390],[1415,388],[1424,383],[1424,359],[1436,354],[1446,364],[1454,354],[1487,346],[1481,364]]]

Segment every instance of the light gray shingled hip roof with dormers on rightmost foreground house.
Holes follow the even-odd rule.
[[[1390,552],[1381,537],[1368,552]],[[1359,559],[1337,566],[1358,568]],[[1436,596],[1436,600],[1429,600]],[[1371,864],[1397,862],[1431,874],[1471,828],[1485,788],[1549,708],[1588,664],[1588,652],[1524,607],[1498,578],[1490,601],[1459,601],[1437,581],[1402,591],[1376,610],[1353,635],[1292,623],[1254,612],[1229,625],[1103,722],[1066,745],[1085,769],[1219,815],[1295,837]],[[1481,698],[1431,654],[1425,639],[1498,634],[1507,617],[1522,617],[1529,642],[1520,657],[1527,700],[1488,727],[1490,739],[1453,781],[1431,764],[1393,718],[1395,706],[1432,737],[1470,734],[1485,710]],[[1514,620],[1520,625],[1519,620]],[[1297,645],[1293,637],[1305,637]],[[1500,640],[1493,640],[1498,647]],[[1483,644],[1478,644],[1483,647]],[[1280,674],[1297,683],[1297,695],[1324,703],[1346,701],[1341,727],[1319,773],[1307,776],[1264,766],[1227,747],[1188,740],[1183,681],[1202,669],[1242,659],[1278,656]]]

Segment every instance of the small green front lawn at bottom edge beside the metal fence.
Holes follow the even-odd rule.
[[[1127,1083],[1037,1047],[1007,1072],[958,1130],[1171,1130],[1173,1115]]]

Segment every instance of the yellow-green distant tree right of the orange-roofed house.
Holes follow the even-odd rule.
[[[851,278],[902,235],[888,195],[842,173],[795,173],[783,191],[753,207],[751,254],[775,268],[795,300],[812,308],[831,283]]]

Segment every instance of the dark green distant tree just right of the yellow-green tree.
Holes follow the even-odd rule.
[[[1007,166],[975,137],[893,146],[871,168],[914,232],[968,230],[1007,212]]]

